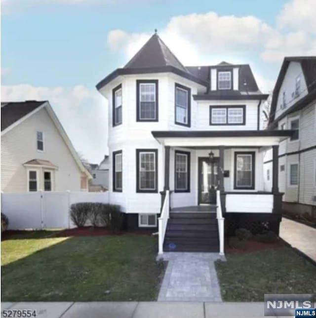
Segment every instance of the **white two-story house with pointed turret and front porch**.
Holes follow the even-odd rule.
[[[110,202],[127,228],[159,223],[159,252],[219,251],[224,218],[227,231],[278,232],[277,177],[264,192],[263,155],[292,132],[260,130],[268,95],[249,65],[185,67],[154,34],[97,89],[109,101]]]

